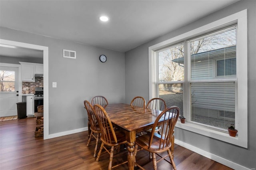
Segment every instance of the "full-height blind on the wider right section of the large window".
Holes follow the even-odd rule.
[[[236,125],[236,27],[189,43],[190,121],[226,130]]]

